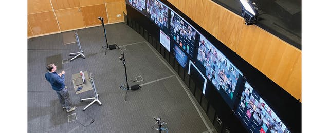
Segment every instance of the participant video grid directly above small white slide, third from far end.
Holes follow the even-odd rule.
[[[172,39],[192,59],[195,48],[195,29],[173,11],[171,11],[170,26]]]

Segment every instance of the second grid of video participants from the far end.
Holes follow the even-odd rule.
[[[168,28],[168,7],[157,0],[146,0],[147,12],[150,19],[162,30]]]

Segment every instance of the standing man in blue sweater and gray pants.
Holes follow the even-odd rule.
[[[65,71],[62,71],[62,73],[57,74],[56,73],[57,67],[53,63],[47,65],[46,68],[49,72],[45,74],[45,78],[51,84],[52,89],[56,91],[63,109],[66,109],[66,112],[71,112],[76,110],[77,108],[76,106],[74,107],[70,106],[70,97],[68,94],[68,90],[64,84]]]

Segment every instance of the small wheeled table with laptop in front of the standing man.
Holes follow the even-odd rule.
[[[72,82],[73,82],[73,87],[74,87],[74,90],[75,90],[76,94],[79,94],[79,93],[82,93],[82,92],[86,92],[86,91],[89,91],[89,90],[94,90],[95,97],[86,98],[86,99],[81,99],[80,100],[80,102],[82,102],[83,100],[90,100],[90,99],[93,99],[94,100],[93,102],[89,103],[85,108],[83,108],[82,111],[86,110],[90,105],[92,105],[96,101],[99,103],[99,106],[102,106],[102,103],[98,99],[98,96],[99,95],[98,95],[98,93],[96,91],[96,87],[95,87],[95,83],[94,83],[94,78],[92,77],[92,75],[90,75],[90,77],[89,77],[88,71],[84,71],[84,76],[86,77],[85,82],[83,84],[81,84],[81,85],[76,86],[75,83],[73,82],[73,79],[78,78],[78,77],[81,77],[81,75],[80,75],[80,73],[72,74]],[[82,89],[80,91],[77,91],[77,89],[80,86],[83,86]]]

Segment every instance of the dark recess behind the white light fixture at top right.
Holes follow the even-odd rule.
[[[241,16],[239,0],[212,0]],[[302,50],[301,0],[252,0],[259,7],[257,26]]]

